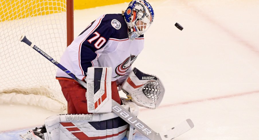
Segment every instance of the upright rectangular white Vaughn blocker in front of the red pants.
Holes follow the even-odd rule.
[[[86,82],[87,111],[111,112],[111,67],[89,67]]]

